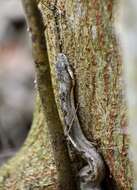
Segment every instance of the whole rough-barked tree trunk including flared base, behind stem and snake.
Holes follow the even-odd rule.
[[[52,86],[62,123],[55,71],[59,53],[67,55],[74,68],[77,114],[85,135],[96,144],[105,161],[105,189],[128,190],[132,189],[132,170],[127,154],[127,109],[122,89],[121,57],[113,30],[114,5],[112,0],[39,2],[45,24]],[[41,88],[44,88],[44,83]],[[43,107],[49,106],[43,100],[44,93],[40,93],[40,97]],[[46,111],[44,114],[46,117]],[[47,117],[46,122],[48,126]],[[59,176],[60,171],[57,167],[56,173],[57,160],[55,158],[54,163],[44,123],[38,101],[33,127],[24,147],[1,170],[2,189],[57,189],[57,173]],[[52,145],[54,147],[54,142]],[[53,152],[55,155],[54,148]],[[63,167],[66,167],[65,163]]]

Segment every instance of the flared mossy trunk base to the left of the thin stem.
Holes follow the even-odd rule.
[[[0,190],[56,189],[57,175],[39,96],[28,138],[0,170]]]

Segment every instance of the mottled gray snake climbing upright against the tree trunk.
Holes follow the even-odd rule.
[[[59,80],[61,108],[66,128],[64,133],[74,149],[87,162],[77,174],[80,190],[101,190],[100,183],[104,178],[104,163],[96,148],[84,136],[77,117],[74,103],[75,79],[67,57],[60,53],[57,56],[56,70]]]

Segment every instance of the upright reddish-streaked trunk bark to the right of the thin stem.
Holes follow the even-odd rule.
[[[54,66],[56,55],[62,51],[75,69],[75,96],[83,131],[97,143],[114,189],[131,189],[122,65],[113,30],[114,4],[110,0],[43,0],[41,10],[55,91]]]

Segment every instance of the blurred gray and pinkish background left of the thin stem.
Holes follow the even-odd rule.
[[[20,0],[0,1],[0,165],[24,142],[34,108],[31,41]]]

